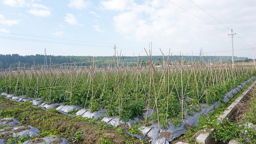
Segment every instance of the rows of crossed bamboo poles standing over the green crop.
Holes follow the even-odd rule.
[[[160,49],[161,51],[161,49]],[[128,66],[121,55],[113,56],[111,62],[102,60],[102,67],[96,65],[96,60],[91,57],[89,66],[79,66],[70,60],[70,65],[52,66],[44,68],[35,64],[26,70],[26,65],[18,66],[15,69],[9,68],[0,72],[0,80],[4,83],[4,92],[16,92],[16,95],[24,95],[38,98],[41,92],[47,90],[45,100],[54,102],[55,94],[64,96],[63,102],[74,104],[73,97],[76,96],[77,88],[80,88],[81,101],[84,108],[92,110],[95,100],[102,105],[103,100],[110,98],[110,105],[118,107],[120,116],[121,107],[127,100],[138,101],[145,99],[146,118],[145,126],[150,120],[153,110],[156,110],[159,124],[159,111],[162,107],[160,100],[166,103],[166,121],[171,112],[178,117],[170,103],[170,96],[175,94],[181,107],[181,119],[184,119],[184,98],[189,98],[200,107],[200,101],[206,98],[208,102],[208,88],[210,86],[226,86],[230,83],[231,87],[236,86],[236,81],[242,77],[251,76],[255,67],[251,63],[237,63],[233,68],[231,63],[223,63],[222,60],[208,60],[202,58],[200,62],[195,62],[193,56],[188,56],[185,60],[182,55],[176,57],[175,62],[171,62],[172,54],[163,55],[163,64],[156,66],[157,62],[152,60],[152,44],[149,50],[145,49],[149,64],[140,61],[140,56],[134,56],[136,63]],[[162,51],[161,51],[162,52]],[[207,57],[207,56],[206,56]],[[81,64],[82,65],[82,64]],[[40,67],[40,68],[36,68]],[[110,94],[110,97],[106,95]],[[161,99],[160,99],[161,98]],[[152,105],[152,106],[151,106]],[[106,106],[105,106],[106,107]],[[151,114],[148,114],[152,108]],[[150,115],[150,116],[149,116]]]

